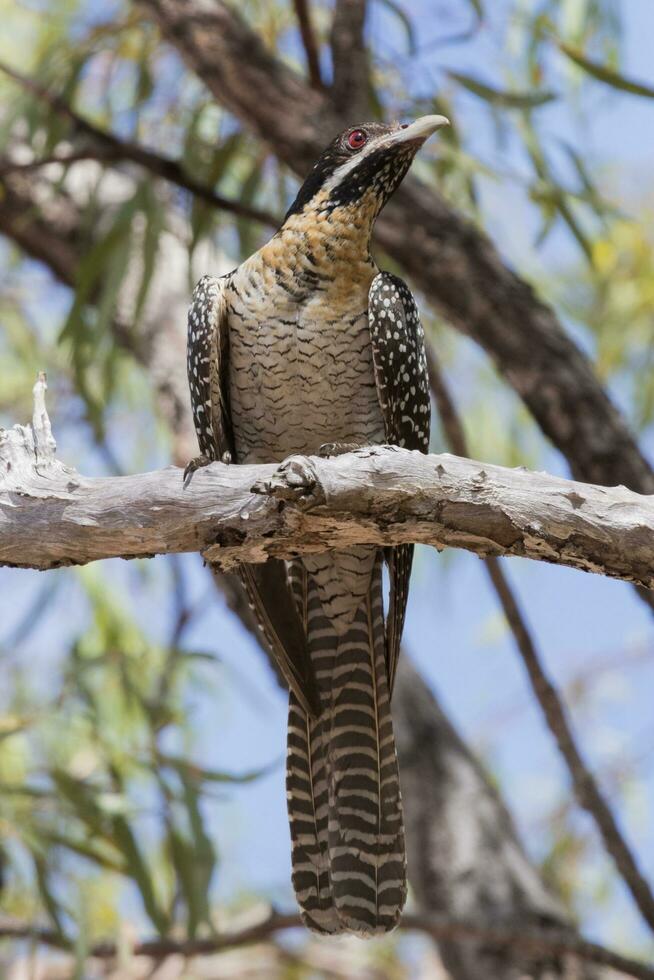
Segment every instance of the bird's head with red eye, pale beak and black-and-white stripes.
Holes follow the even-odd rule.
[[[445,116],[422,116],[409,125],[363,123],[344,130],[315,163],[285,222],[295,215],[333,216],[370,231],[422,144],[448,122]]]

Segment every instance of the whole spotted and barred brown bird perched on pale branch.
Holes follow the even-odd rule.
[[[351,126],[326,147],[281,227],[197,284],[187,369],[200,454],[282,462],[394,445],[428,452],[431,403],[416,303],[370,252],[375,220],[448,120]],[[240,566],[289,688],[292,882],[314,932],[393,929],[407,894],[391,694],[413,546],[357,545]],[[388,568],[384,609],[383,566]]]

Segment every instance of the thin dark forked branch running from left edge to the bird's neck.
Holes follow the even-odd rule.
[[[177,187],[181,187],[183,190],[189,191],[195,197],[206,201],[207,204],[211,204],[221,211],[227,211],[239,218],[247,218],[251,221],[256,221],[258,224],[268,225],[273,228],[277,228],[281,224],[280,219],[269,211],[253,208],[247,204],[241,204],[240,201],[223,197],[222,194],[216,194],[206,184],[201,184],[194,180],[193,177],[190,177],[177,160],[148,150],[138,143],[119,139],[113,133],[107,133],[99,127],[94,126],[88,120],[84,119],[83,116],[75,112],[60,96],[49,92],[44,86],[31,78],[27,78],[15,68],[11,68],[9,65],[0,62],[0,71],[4,72],[9,78],[12,78],[22,88],[26,89],[26,91],[31,92],[32,95],[48,105],[58,115],[68,119],[74,125],[77,132],[89,144],[86,149],[73,151],[69,157],[64,157],[63,155],[58,157],[54,155],[46,157],[44,160],[35,160],[20,164],[4,162],[2,170],[0,170],[0,177],[14,171],[26,171],[35,167],[45,166],[48,163],[66,164],[74,163],[78,160],[98,160],[103,163],[130,161],[131,163],[136,163],[138,166],[144,167],[155,176],[161,177],[162,180],[166,180],[169,183],[175,184]]]

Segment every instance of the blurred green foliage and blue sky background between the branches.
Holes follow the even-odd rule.
[[[292,4],[246,0],[240,9],[305,71]],[[2,0],[0,13],[4,62],[97,126],[179,159],[217,193],[284,212],[295,178],[215,105],[138,8]],[[331,5],[314,2],[312,15],[324,41]],[[645,0],[376,0],[367,30],[378,114],[452,118],[416,170],[554,304],[650,455],[653,34]],[[322,58],[328,78],[325,46]],[[5,158],[68,153],[70,122],[3,75],[0,103]],[[116,346],[110,323],[118,311],[137,341],[145,335],[152,271],[170,261],[173,238],[190,292],[202,272],[229,268],[269,231],[136,165],[85,161],[43,174],[77,189],[97,244],[73,291],[0,241],[0,421],[27,419],[33,378],[47,368],[61,458],[89,474],[165,465],[171,441],[152,379]],[[479,349],[424,314],[472,453],[565,473]],[[436,426],[433,449],[442,448]],[[509,571],[587,756],[653,876],[651,617],[619,583],[515,560]],[[476,559],[421,553],[406,646],[571,914],[602,941],[651,952],[571,799]],[[196,556],[47,576],[0,570],[0,657],[3,912],[75,936],[81,962],[90,943],[126,923],[139,935],[172,924],[195,935],[262,900],[292,909],[285,698]],[[388,975],[431,955],[415,939],[383,949]],[[23,953],[7,948],[6,964]]]

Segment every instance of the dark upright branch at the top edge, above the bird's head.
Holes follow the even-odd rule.
[[[370,65],[364,41],[366,0],[336,0],[331,30],[333,81],[331,99],[336,112],[350,122],[367,115]]]

